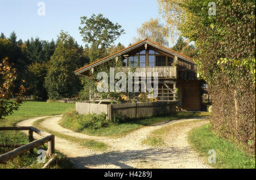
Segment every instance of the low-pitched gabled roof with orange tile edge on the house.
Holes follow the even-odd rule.
[[[152,47],[158,48],[158,49],[160,49],[160,50],[162,50],[164,52],[167,52],[167,53],[170,53],[170,54],[172,54],[174,56],[183,58],[184,60],[187,60],[187,61],[192,62],[193,64],[195,64],[195,62],[193,61],[193,59],[191,57],[182,55],[181,53],[173,51],[172,49],[164,47],[163,45],[155,43],[154,41],[151,41],[149,39],[144,39],[142,41],[139,41],[138,43],[130,45],[129,47],[127,47],[125,49],[122,49],[121,51],[115,52],[114,54],[106,56],[106,57],[104,57],[104,58],[102,58],[102,59],[100,59],[98,61],[95,61],[95,62],[89,64],[89,65],[86,65],[83,68],[77,69],[75,71],[75,73],[76,74],[81,74],[81,73],[85,72],[86,70],[92,69],[95,66],[98,66],[98,65],[100,65],[100,64],[102,64],[102,63],[104,63],[106,61],[112,60],[113,58],[118,57],[120,55],[123,55],[123,54],[125,54],[125,53],[127,53],[127,52],[129,52],[129,51],[131,51],[131,50],[133,50],[135,48],[141,47],[141,45],[144,45],[144,44],[151,45]]]

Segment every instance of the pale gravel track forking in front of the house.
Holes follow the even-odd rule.
[[[32,118],[18,123],[18,126],[31,126],[36,120],[46,118],[42,125],[51,131],[65,135],[101,141],[110,146],[105,152],[96,152],[71,141],[55,137],[55,148],[75,164],[76,168],[210,168],[204,164],[201,157],[191,148],[187,141],[187,133],[207,121],[193,122],[198,119],[172,120],[169,122],[149,125],[129,133],[124,137],[112,139],[110,137],[88,136],[73,132],[59,125],[61,116],[45,116]],[[152,148],[143,145],[142,141],[150,132],[166,125],[191,121],[188,125],[174,126],[166,137],[168,144],[164,148]],[[40,138],[35,135],[35,138]]]

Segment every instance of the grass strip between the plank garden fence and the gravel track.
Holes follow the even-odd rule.
[[[129,119],[123,123],[112,123],[108,127],[100,129],[84,128],[77,131],[75,124],[79,122],[67,122],[65,116],[61,119],[60,125],[65,128],[72,129],[72,131],[85,133],[86,135],[92,136],[109,136],[109,137],[121,137],[128,133],[142,128],[146,125],[152,125],[156,123],[166,122],[168,120],[175,119],[188,119],[188,118],[202,118],[208,117],[210,114],[208,112],[178,112],[175,115],[164,115],[151,118],[140,118],[140,119]],[[69,117],[69,119],[72,119]],[[79,119],[78,119],[79,121]]]

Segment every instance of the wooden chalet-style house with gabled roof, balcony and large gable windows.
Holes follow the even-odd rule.
[[[198,79],[193,59],[149,39],[86,65],[75,73],[89,76],[89,72],[92,73],[97,66],[118,58],[122,61],[122,67],[118,67],[122,72],[129,72],[131,68],[138,73],[158,72],[157,101],[176,101],[178,97],[178,104],[183,110],[201,110],[201,81]]]

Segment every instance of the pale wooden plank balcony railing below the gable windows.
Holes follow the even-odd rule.
[[[139,76],[141,74],[150,73],[150,75],[153,77],[154,72],[158,72],[159,78],[177,78],[177,67],[176,66],[155,66],[155,67],[118,67],[115,68],[117,72],[137,72],[139,73]]]

